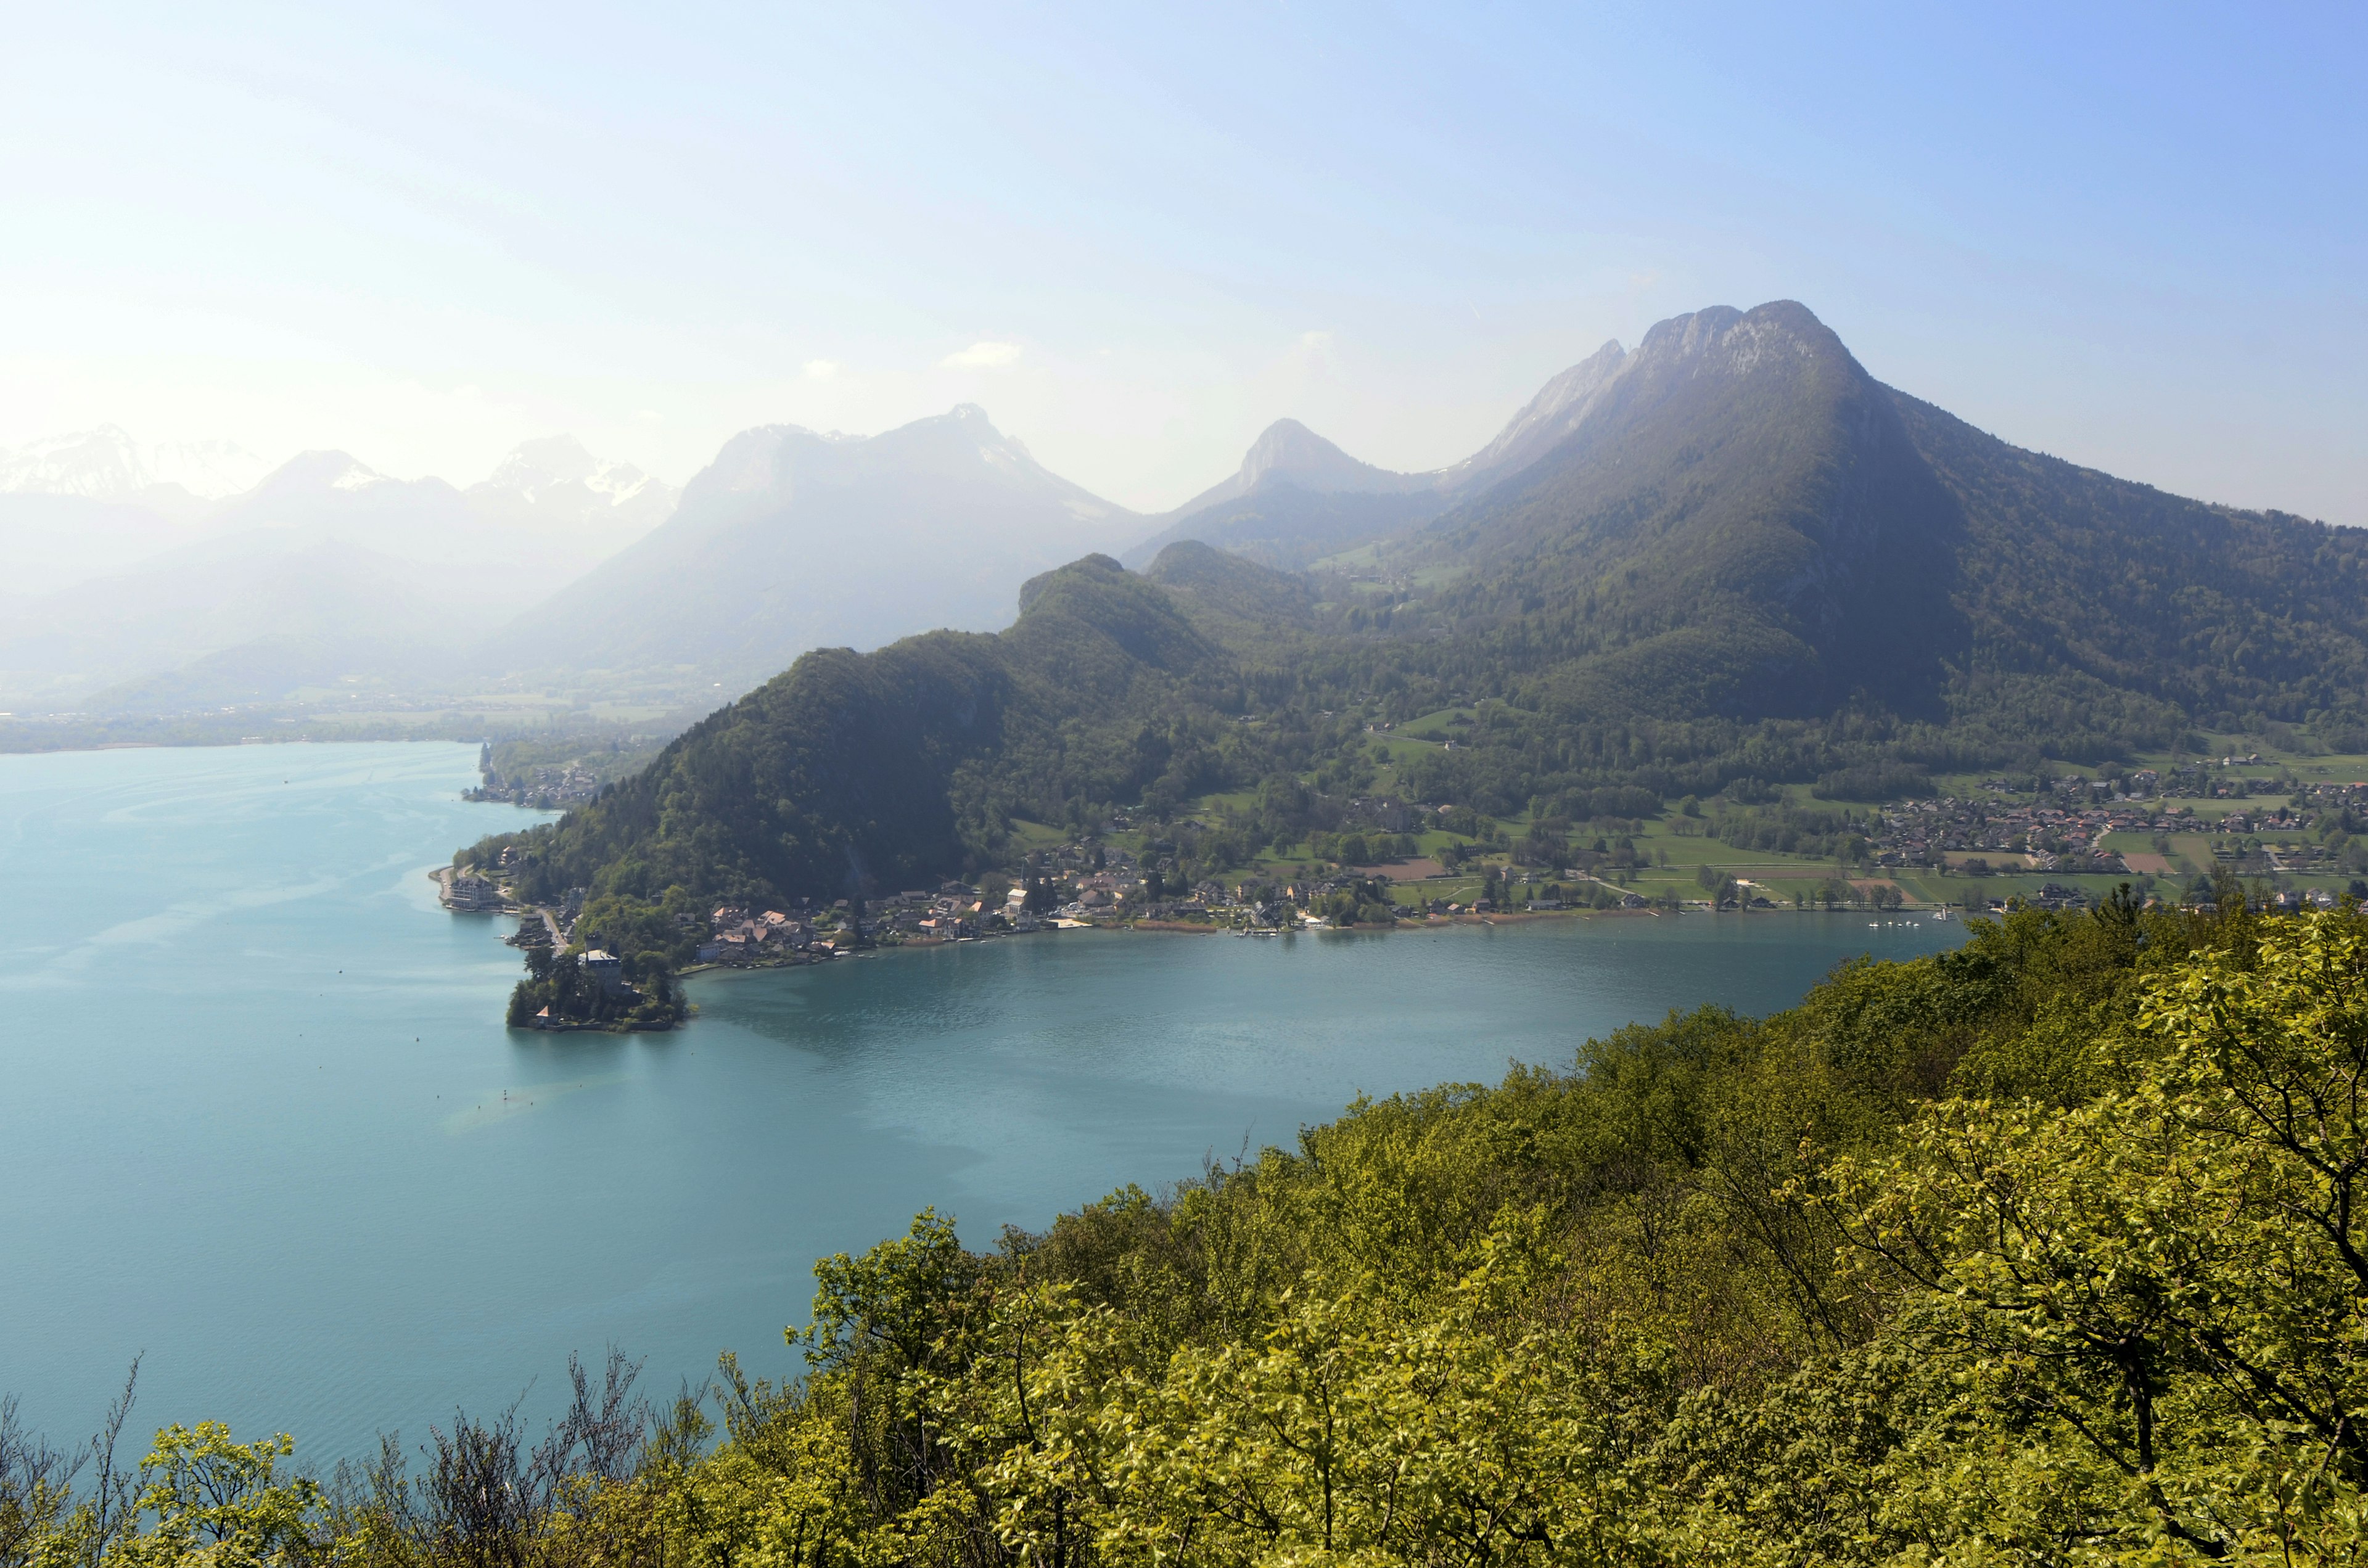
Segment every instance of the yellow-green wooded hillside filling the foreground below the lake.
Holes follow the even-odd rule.
[[[817,1265],[805,1379],[578,1376],[542,1445],[14,1433],[0,1561],[2354,1561],[2368,919],[2221,910],[1984,921],[987,1251],[924,1213]]]

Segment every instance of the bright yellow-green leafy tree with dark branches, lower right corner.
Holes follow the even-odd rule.
[[[2129,1085],[2091,1104],[1946,1101],[1838,1168],[1871,1289],[1911,1291],[1892,1334],[1946,1374],[1913,1502],[2032,1549],[2351,1554],[2368,933],[2311,917],[2205,952],[2122,1049]]]

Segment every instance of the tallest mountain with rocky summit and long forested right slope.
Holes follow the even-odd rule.
[[[1385,547],[1369,666],[1568,720],[1946,725],[2089,751],[2356,725],[2368,533],[2025,452],[1802,306],[1662,322],[1527,469]]]

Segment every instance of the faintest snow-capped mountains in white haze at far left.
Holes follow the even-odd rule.
[[[424,680],[677,495],[568,436],[516,448],[466,490],[303,452],[213,505],[137,486],[154,450],[121,431],[36,457],[12,457],[17,483],[76,490],[0,495],[12,587],[33,590],[0,625],[0,696],[17,703],[220,706]],[[166,493],[187,505],[159,509]]]

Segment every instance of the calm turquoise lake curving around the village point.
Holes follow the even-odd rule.
[[[1963,926],[1568,919],[1061,933],[691,981],[675,1035],[502,1028],[511,921],[426,869],[533,820],[474,746],[0,756],[0,1393],[90,1428],[424,1440],[566,1355],[798,1362],[812,1260],[935,1206],[971,1244],[1288,1144],[1364,1094],[1568,1063],[1669,1007],[1785,1007]]]

